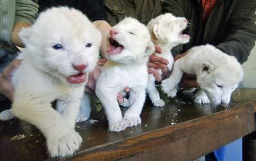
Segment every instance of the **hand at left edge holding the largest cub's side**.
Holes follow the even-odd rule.
[[[20,59],[13,60],[10,65],[4,68],[3,73],[0,73],[0,93],[13,101],[13,84],[12,74],[20,65]]]

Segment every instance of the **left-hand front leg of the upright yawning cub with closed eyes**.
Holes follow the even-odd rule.
[[[97,84],[95,93],[104,107],[108,118],[109,131],[120,132],[125,129],[122,112],[116,100],[116,95],[111,89],[103,88]]]

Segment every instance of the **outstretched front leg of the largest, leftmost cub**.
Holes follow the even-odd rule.
[[[82,142],[80,135],[44,98],[29,99],[29,94],[15,96],[12,112],[17,118],[35,125],[44,134],[51,157],[73,155]]]

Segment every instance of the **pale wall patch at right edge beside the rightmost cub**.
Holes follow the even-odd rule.
[[[243,64],[244,80],[240,87],[256,88],[256,46],[253,48],[248,61]]]

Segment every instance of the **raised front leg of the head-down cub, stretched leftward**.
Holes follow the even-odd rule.
[[[163,92],[172,98],[177,94],[176,86],[179,84],[184,73],[180,69],[183,62],[184,61],[182,59],[178,59],[177,61],[175,61],[172,74],[168,79],[164,79],[161,84]]]

